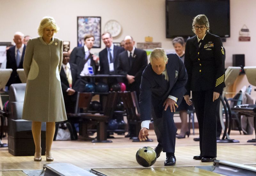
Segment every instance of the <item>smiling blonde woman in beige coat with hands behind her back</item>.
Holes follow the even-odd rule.
[[[32,121],[36,146],[34,161],[41,161],[41,123],[46,122],[46,161],[53,161],[51,147],[55,122],[67,120],[60,83],[63,43],[53,38],[59,27],[44,17],[36,37],[28,40],[23,68],[27,77],[22,118]]]

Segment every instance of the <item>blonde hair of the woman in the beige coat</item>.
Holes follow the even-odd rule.
[[[48,26],[51,26],[54,29],[54,33],[57,33],[60,30],[59,26],[56,25],[55,19],[53,17],[44,17],[37,28],[38,35],[43,37],[44,28]]]

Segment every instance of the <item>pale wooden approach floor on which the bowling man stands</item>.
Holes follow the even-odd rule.
[[[123,168],[124,170],[135,169],[133,171],[136,174],[141,171],[150,171],[150,169],[143,168],[136,162],[135,154],[142,146],[155,147],[157,145],[153,130],[150,130],[150,138],[153,138],[154,142],[134,143],[120,135],[115,135],[115,137],[115,139],[111,139],[113,143],[104,144],[84,141],[53,141],[53,162],[70,163],[83,169],[106,169],[106,172],[114,168]],[[194,155],[198,155],[200,152],[199,142],[193,141],[193,137],[198,137],[198,133],[191,135],[189,138],[176,140],[175,156],[177,162],[175,166],[164,167],[165,153],[162,153],[152,166],[154,168],[152,173],[156,171],[163,172],[165,170],[176,173],[180,168],[184,168],[185,170],[188,169],[188,172],[191,170],[191,172],[193,171],[197,174],[199,170],[198,168],[194,168],[194,166],[211,166],[212,162],[202,163],[200,160],[192,159]],[[248,139],[255,138],[255,135],[239,135],[238,131],[231,131],[231,138],[238,139],[240,143],[218,143],[217,159],[255,166],[256,158],[254,156],[256,156],[256,146],[253,145],[254,143],[246,143]],[[3,143],[7,142],[6,137],[3,138]],[[12,156],[8,152],[8,148],[0,148],[0,171],[2,172],[40,170],[43,169],[44,164],[53,162],[45,161],[45,156],[42,156],[41,162],[33,161],[33,156]],[[131,175],[135,174],[133,172],[129,173]]]

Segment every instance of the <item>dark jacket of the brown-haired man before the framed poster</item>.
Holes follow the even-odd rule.
[[[69,63],[76,64],[78,66],[78,72],[80,71],[80,73],[84,68],[84,64],[86,63],[84,57],[85,57],[84,46],[75,47],[73,49],[73,51],[71,52],[71,54],[70,54]],[[90,55],[88,57],[91,58],[91,64],[90,65],[93,68],[94,74],[97,74],[99,65],[95,64],[95,61],[92,59],[92,53],[90,53]]]

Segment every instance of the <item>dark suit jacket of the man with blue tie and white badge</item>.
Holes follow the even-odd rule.
[[[117,72],[116,72],[117,62],[118,62],[117,57],[123,51],[124,51],[124,48],[114,45],[113,55],[114,55],[114,72],[115,72],[115,74],[117,74]],[[109,74],[107,48],[100,51],[99,58],[100,58],[100,74]]]

